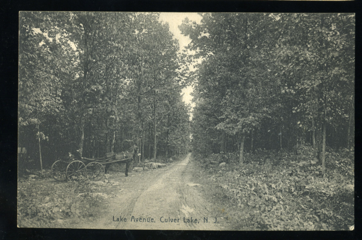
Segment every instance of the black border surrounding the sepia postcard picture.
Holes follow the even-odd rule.
[[[0,237],[2,239],[362,239],[361,127],[355,128],[355,230],[354,231],[164,231],[97,230],[68,228],[17,228],[17,72],[19,11],[120,12],[308,12],[356,13],[355,99],[357,122],[361,117],[361,1],[231,1],[231,0],[92,0],[10,1],[0,7]]]

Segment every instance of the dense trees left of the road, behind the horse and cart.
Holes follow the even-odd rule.
[[[18,146],[33,165],[25,167],[50,167],[75,149],[97,158],[138,143],[140,161],[188,149],[183,58],[157,13],[19,20]]]

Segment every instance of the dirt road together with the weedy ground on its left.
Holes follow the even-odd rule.
[[[20,204],[18,226],[157,230],[234,229],[236,220],[230,219],[232,207],[228,207],[224,201],[222,189],[206,175],[197,161],[191,159],[191,154],[169,164],[149,163],[146,166],[133,168],[128,177],[125,177],[123,172],[110,172],[101,181],[85,183],[56,182],[51,178],[32,177],[21,181],[18,184],[18,196],[27,202]],[[80,185],[82,187],[79,187]],[[32,189],[34,193],[28,196],[27,188]],[[48,195],[49,199],[39,194]],[[61,199],[54,200],[60,194]],[[37,198],[39,199],[36,200]],[[69,203],[75,201],[74,199],[77,204]],[[38,206],[30,207],[30,202],[38,202]],[[66,203],[70,207],[66,207]],[[52,206],[50,210],[39,214],[41,209],[46,209],[46,204]],[[30,213],[29,209],[34,208],[38,216],[37,221],[31,221],[35,213]]]

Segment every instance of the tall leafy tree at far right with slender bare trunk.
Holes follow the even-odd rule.
[[[307,118],[300,121],[313,133],[320,133],[318,153],[321,151],[324,172],[327,125],[331,126],[338,115],[348,114],[342,93],[353,92],[354,14],[278,17],[281,37],[275,51],[281,77],[286,92],[298,102],[293,112],[302,112]]]

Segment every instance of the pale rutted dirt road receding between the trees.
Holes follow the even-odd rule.
[[[118,173],[100,186],[108,194],[102,213],[81,224],[81,228],[226,230],[220,210],[207,194],[210,185],[200,177],[190,154],[165,168]],[[123,176],[122,176],[123,175]]]

